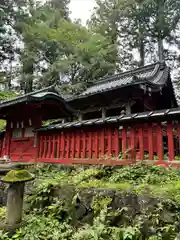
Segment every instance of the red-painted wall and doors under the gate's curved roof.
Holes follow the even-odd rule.
[[[7,121],[1,156],[9,156],[12,161],[32,161],[37,154],[35,134],[27,137],[25,136],[25,129],[29,127],[35,129],[41,125],[41,116],[34,115],[28,107],[21,114],[20,110],[16,114],[14,113],[14,117]],[[22,132],[21,137],[13,137],[15,128]]]

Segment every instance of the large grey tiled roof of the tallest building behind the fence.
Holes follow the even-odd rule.
[[[161,87],[166,83],[169,72],[170,69],[165,63],[155,63],[133,71],[119,73],[101,79],[95,85],[87,88],[78,98],[129,85],[146,84],[152,88]]]

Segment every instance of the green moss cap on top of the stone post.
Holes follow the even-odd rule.
[[[15,182],[25,182],[30,181],[34,177],[27,170],[11,170],[2,178],[2,181],[15,183]]]

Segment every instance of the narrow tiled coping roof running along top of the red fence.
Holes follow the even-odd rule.
[[[67,128],[77,128],[82,126],[90,126],[90,125],[101,125],[104,123],[123,123],[126,121],[138,121],[142,119],[155,119],[159,117],[166,117],[166,116],[173,116],[178,115],[180,116],[180,108],[172,108],[172,109],[165,109],[165,110],[157,110],[151,112],[143,112],[143,113],[134,113],[129,115],[121,115],[121,116],[114,116],[114,117],[107,117],[105,119],[96,118],[90,120],[83,120],[77,122],[66,122],[66,123],[58,123],[52,124],[47,127],[42,127],[37,129],[36,131],[48,131],[48,130],[55,130],[55,129],[67,129]]]

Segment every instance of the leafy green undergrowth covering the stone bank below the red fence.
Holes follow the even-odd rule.
[[[25,226],[0,239],[179,239],[179,169],[43,165],[32,173]]]

